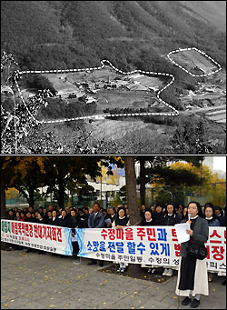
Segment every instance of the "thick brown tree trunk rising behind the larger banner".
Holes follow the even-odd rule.
[[[136,176],[134,171],[134,156],[125,156],[125,178],[126,178],[126,193],[127,204],[129,206],[129,218],[131,225],[138,225],[140,215],[138,210],[137,195],[136,195]],[[129,273],[133,277],[139,274],[141,266],[139,264],[129,265]]]

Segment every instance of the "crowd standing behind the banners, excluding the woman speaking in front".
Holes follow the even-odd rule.
[[[181,204],[167,203],[164,205],[151,205],[140,207],[140,221],[136,225],[175,225],[188,219],[188,207]],[[73,256],[77,259],[79,246],[75,238],[75,228],[122,228],[130,225],[128,205],[108,206],[107,209],[95,203],[93,207],[65,207],[56,208],[54,205],[48,205],[47,208],[39,206],[35,209],[32,206],[28,208],[10,209],[7,211],[8,219],[15,221],[24,221],[32,223],[40,223],[46,225],[57,225],[62,227],[72,228],[72,245]],[[225,208],[222,210],[220,206],[214,206],[212,203],[207,203],[202,206],[203,217],[209,226],[225,226],[226,215]],[[20,245],[14,245],[16,249],[21,249]],[[31,248],[26,248],[27,252],[37,251]],[[44,251],[38,250],[39,254],[44,254]],[[53,254],[55,255],[55,254]],[[62,255],[62,257],[64,257]],[[97,260],[92,259],[88,265],[97,264]],[[104,261],[100,260],[99,264],[104,265]],[[123,273],[127,264],[121,263],[118,272]],[[156,267],[153,265],[148,268],[148,273],[155,273]],[[163,275],[172,276],[173,268],[164,267]],[[213,281],[213,273],[209,273],[209,282]]]

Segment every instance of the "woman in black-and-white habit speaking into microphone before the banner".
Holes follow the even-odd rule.
[[[186,233],[190,235],[190,240],[181,244],[180,264],[175,294],[186,296],[182,305],[189,305],[196,308],[200,305],[201,295],[209,295],[208,276],[206,259],[201,256],[192,255],[193,246],[203,246],[209,238],[209,226],[207,221],[202,218],[202,208],[197,202],[188,205],[189,219],[182,223],[188,223],[190,229]],[[205,255],[204,255],[205,256]],[[194,296],[192,301],[192,296]]]

